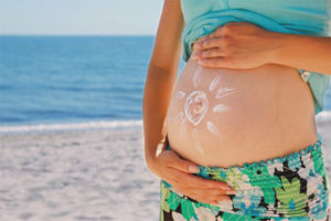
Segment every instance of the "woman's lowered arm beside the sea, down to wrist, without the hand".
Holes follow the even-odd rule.
[[[153,169],[157,147],[166,138],[163,123],[177,81],[183,27],[180,1],[164,0],[142,102],[145,155],[150,169]]]

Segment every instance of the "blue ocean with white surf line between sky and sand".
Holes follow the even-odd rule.
[[[153,41],[0,36],[0,133],[141,125]],[[325,99],[331,110],[330,88]]]

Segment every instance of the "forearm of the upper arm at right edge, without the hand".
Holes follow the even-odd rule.
[[[278,35],[277,48],[270,63],[293,66],[311,72],[331,75],[331,38],[299,34]],[[276,42],[275,42],[276,43]]]

